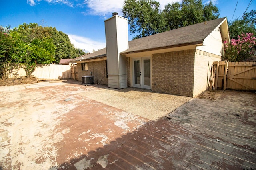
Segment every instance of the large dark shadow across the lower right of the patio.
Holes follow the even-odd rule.
[[[254,168],[255,96],[230,94],[225,92],[215,102],[193,99],[176,109],[170,119],[146,123],[49,170]],[[102,156],[106,159],[99,163]]]

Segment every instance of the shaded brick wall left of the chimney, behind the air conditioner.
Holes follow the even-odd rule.
[[[81,63],[77,63],[78,81],[82,81],[82,76],[94,76],[94,83],[108,85],[106,77],[106,61],[88,62],[88,71],[82,71]],[[91,74],[92,73],[92,74]]]

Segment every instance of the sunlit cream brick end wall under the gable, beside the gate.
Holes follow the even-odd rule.
[[[196,50],[195,52],[195,69],[194,69],[194,90],[193,97],[207,90],[210,78],[210,71],[214,61],[220,61],[221,56],[207,53],[205,51]]]

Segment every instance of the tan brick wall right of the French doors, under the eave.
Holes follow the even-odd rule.
[[[153,54],[152,91],[193,96],[195,49]]]

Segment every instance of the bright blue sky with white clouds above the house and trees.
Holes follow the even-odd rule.
[[[168,2],[180,0],[158,1],[164,8]],[[256,9],[255,0],[212,0],[220,9],[220,17],[228,17],[228,21],[233,14],[233,20],[240,18],[250,1],[247,12]],[[23,23],[38,23],[56,27],[68,34],[75,47],[92,52],[106,47],[104,20],[111,17],[112,12],[122,16],[123,3],[124,0],[0,0],[0,25],[14,28]],[[129,33],[129,40],[132,37]]]

